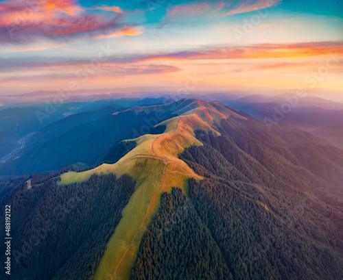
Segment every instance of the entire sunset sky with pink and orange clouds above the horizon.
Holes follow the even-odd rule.
[[[342,74],[342,0],[0,0],[0,101],[63,88],[343,100]]]

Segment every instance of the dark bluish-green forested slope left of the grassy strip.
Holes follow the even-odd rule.
[[[90,279],[134,192],[127,175],[93,175],[67,186],[57,186],[58,178],[29,189],[22,183],[0,202],[11,205],[16,221],[11,279]]]

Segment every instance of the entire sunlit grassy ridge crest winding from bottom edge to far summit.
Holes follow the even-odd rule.
[[[183,105],[183,106],[182,106]],[[162,192],[171,186],[182,188],[187,193],[187,181],[193,177],[201,179],[189,166],[178,158],[187,147],[202,145],[194,131],[212,131],[213,121],[234,116],[243,118],[220,103],[187,99],[168,105],[180,114],[158,125],[165,125],[160,135],[145,135],[135,139],[137,147],[116,164],[102,164],[82,173],[61,175],[61,184],[86,181],[97,173],[115,173],[118,177],[128,174],[136,181],[136,190],[123,209],[123,218],[107,244],[106,252],[95,272],[96,280],[128,279],[134,264],[143,233],[157,212]],[[134,107],[134,112],[156,110],[156,106]]]

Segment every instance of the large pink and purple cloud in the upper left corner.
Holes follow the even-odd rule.
[[[99,14],[95,8],[104,12]],[[117,6],[95,8],[85,10],[74,0],[2,1],[0,44],[27,44],[42,39],[65,41],[82,36],[100,38],[113,34],[136,36],[143,31],[124,25],[123,12]]]

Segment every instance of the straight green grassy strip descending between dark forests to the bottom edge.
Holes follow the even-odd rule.
[[[108,280],[108,275],[113,275],[116,269],[116,277],[128,279],[145,228],[158,209],[157,205],[153,205],[148,211],[150,201],[160,187],[163,162],[154,159],[134,159],[132,162],[132,177],[137,180],[137,190],[123,209],[123,218],[106,246],[106,252],[95,272],[95,280]]]

